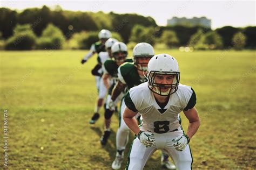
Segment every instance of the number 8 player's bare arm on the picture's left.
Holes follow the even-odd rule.
[[[134,118],[135,115],[137,115],[138,112],[134,112],[130,110],[129,108],[125,107],[123,119],[126,125],[135,133],[139,133],[139,126],[137,123],[136,118]]]

